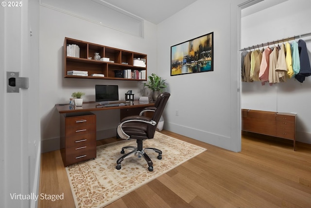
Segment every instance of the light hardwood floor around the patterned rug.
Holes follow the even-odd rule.
[[[207,151],[106,208],[311,208],[311,145],[297,142],[293,151],[290,140],[243,133],[242,151],[236,153],[161,133]],[[41,154],[40,193],[64,193],[64,199],[38,200],[39,208],[74,208],[60,151]]]

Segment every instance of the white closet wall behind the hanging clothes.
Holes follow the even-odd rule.
[[[310,19],[310,0],[285,0],[243,17],[241,48],[311,33]],[[306,41],[311,59],[311,36],[302,39]],[[306,77],[302,84],[294,78],[273,86],[242,82],[242,108],[297,113],[296,140],[306,143],[311,143],[310,102],[311,77]]]

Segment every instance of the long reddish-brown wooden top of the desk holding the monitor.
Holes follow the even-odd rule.
[[[116,102],[114,102],[116,103]],[[126,103],[125,101],[120,101],[120,103]],[[126,109],[126,108],[138,108],[138,107],[148,107],[154,106],[154,101],[149,101],[149,103],[139,103],[138,100],[134,100],[133,104],[128,104],[124,106],[113,106],[104,107],[99,104],[99,102],[84,102],[82,106],[74,106],[69,104],[56,104],[55,107],[59,113],[77,113],[86,111],[103,111],[112,109]]]

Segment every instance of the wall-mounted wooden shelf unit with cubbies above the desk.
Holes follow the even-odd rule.
[[[79,51],[76,56],[68,56],[67,46],[77,45]],[[71,50],[70,50],[71,51]],[[71,53],[71,52],[70,52]],[[99,53],[109,61],[95,60],[94,54]],[[91,57],[91,59],[88,59]],[[134,64],[134,59],[145,60],[145,66]],[[126,64],[127,63],[127,64]],[[116,77],[115,71],[131,70],[131,77]],[[87,71],[88,76],[68,75],[69,71]],[[129,72],[129,71],[127,71]],[[103,76],[91,76],[102,74]],[[116,80],[147,80],[147,55],[136,52],[121,50],[95,43],[85,42],[72,38],[64,40],[64,77],[65,78],[88,78],[88,79],[116,79]]]

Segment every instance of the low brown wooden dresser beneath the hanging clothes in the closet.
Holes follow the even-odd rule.
[[[295,119],[295,113],[242,109],[242,131],[293,140],[295,150]]]

